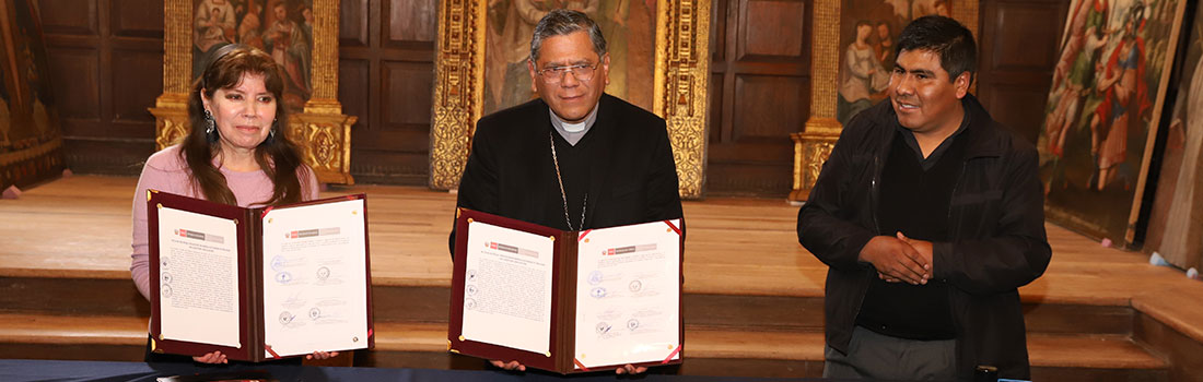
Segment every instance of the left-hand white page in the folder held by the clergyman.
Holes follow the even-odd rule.
[[[555,244],[551,237],[468,223],[464,339],[550,354]]]

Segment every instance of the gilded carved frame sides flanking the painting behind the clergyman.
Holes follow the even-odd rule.
[[[434,60],[431,121],[433,189],[460,184],[473,129],[481,117],[485,78],[485,0],[443,0]],[[668,121],[681,196],[705,185],[710,0],[658,0],[653,111]]]

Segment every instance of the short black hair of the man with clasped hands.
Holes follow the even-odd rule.
[[[924,16],[902,29],[894,53],[929,50],[940,56],[940,66],[948,72],[948,80],[956,80],[964,72],[970,83],[977,74],[977,43],[965,25],[943,16]]]

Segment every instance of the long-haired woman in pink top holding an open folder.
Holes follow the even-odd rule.
[[[286,137],[280,68],[262,50],[229,44],[214,52],[192,86],[191,131],[179,144],[147,160],[134,192],[134,253],[130,271],[138,292],[150,299],[147,189],[239,207],[295,203],[318,196],[312,169]],[[315,352],[307,358],[330,358]],[[186,358],[147,351],[147,362]],[[200,363],[226,363],[212,352]],[[297,359],[296,362],[298,362]]]

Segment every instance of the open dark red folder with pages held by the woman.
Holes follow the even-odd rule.
[[[365,195],[241,208],[147,191],[153,352],[371,348]]]

